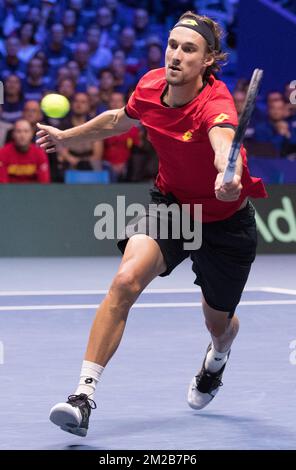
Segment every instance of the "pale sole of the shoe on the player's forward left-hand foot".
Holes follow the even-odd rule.
[[[79,426],[78,418],[70,405],[58,404],[54,406],[50,411],[49,419],[53,424],[59,426],[62,431],[80,437],[85,437],[87,434],[87,429]]]

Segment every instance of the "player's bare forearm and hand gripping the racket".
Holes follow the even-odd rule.
[[[223,174],[228,163],[228,155],[234,138],[234,129],[214,126],[209,130],[209,139],[215,152],[214,165],[218,171],[215,181],[216,198],[220,201],[236,201],[239,199],[242,184],[243,160],[241,154],[236,162],[236,171],[231,183],[222,185]]]

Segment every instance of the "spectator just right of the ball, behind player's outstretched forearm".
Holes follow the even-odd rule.
[[[79,126],[89,119],[90,101],[86,93],[76,93],[72,101],[71,114],[61,123],[62,129]],[[58,159],[64,163],[64,168],[77,170],[93,170],[101,168],[103,144],[101,141],[94,143],[80,142],[75,148],[64,147],[60,150]]]

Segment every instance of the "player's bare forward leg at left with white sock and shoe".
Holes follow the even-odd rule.
[[[166,263],[155,240],[140,234],[130,238],[91,328],[82,367],[86,372],[68,402],[51,409],[50,420],[62,430],[86,436],[91,409],[96,406],[92,400],[96,383],[119,346],[129,310],[144,288],[165,270]]]

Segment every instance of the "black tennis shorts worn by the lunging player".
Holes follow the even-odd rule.
[[[163,195],[157,188],[150,190],[151,203],[176,203],[173,194]],[[225,202],[227,204],[227,202]],[[148,223],[158,223],[161,217],[148,213],[132,219],[128,226],[138,227],[143,218],[146,224],[141,224],[138,233],[149,234]],[[149,220],[150,218],[150,220]],[[151,218],[155,220],[151,221]],[[145,227],[146,226],[146,227]],[[143,228],[144,227],[144,228]],[[158,243],[167,269],[160,276],[168,276],[184,259],[190,256],[192,270],[196,275],[195,284],[201,287],[203,296],[210,307],[229,312],[233,316],[238,305],[244,286],[247,282],[251,264],[256,256],[257,230],[255,210],[248,201],[246,207],[237,211],[228,219],[202,224],[202,245],[197,250],[184,250],[184,239],[155,238]],[[117,246],[124,253],[128,235],[118,241]]]

